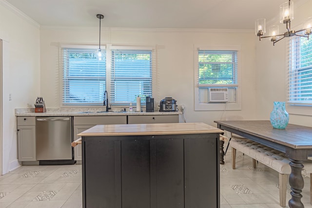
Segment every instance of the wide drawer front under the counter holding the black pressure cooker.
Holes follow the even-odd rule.
[[[128,115],[128,124],[178,123],[179,115]]]

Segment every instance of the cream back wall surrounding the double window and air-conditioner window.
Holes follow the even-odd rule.
[[[172,96],[184,104],[188,122],[231,116],[255,119],[255,41],[253,31],[149,30],[103,28],[102,43],[156,44],[158,95],[155,104]],[[41,95],[48,108],[59,108],[58,45],[60,42],[98,43],[98,28],[41,28]],[[241,45],[241,111],[194,111],[194,45]],[[154,95],[155,96],[155,95]]]

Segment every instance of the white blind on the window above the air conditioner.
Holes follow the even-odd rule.
[[[236,86],[237,51],[198,51],[198,86]]]

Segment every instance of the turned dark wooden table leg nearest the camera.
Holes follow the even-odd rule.
[[[290,159],[289,165],[291,166],[292,173],[289,175],[289,185],[291,186],[292,198],[289,200],[288,205],[290,208],[304,208],[301,202],[301,192],[304,186],[301,170],[303,169],[303,161]]]

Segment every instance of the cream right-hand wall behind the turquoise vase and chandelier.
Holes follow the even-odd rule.
[[[292,30],[301,29],[306,18],[311,16],[312,1],[294,8]],[[277,22],[277,20],[276,20]],[[276,24],[272,22],[272,24]],[[267,31],[270,25],[267,24]],[[285,24],[279,24],[279,32],[285,32]],[[273,43],[269,38],[256,42],[256,95],[257,118],[270,119],[273,110],[273,101],[287,101],[287,69],[286,44],[289,38]],[[312,126],[311,107],[286,107],[290,113],[289,123]],[[300,115],[301,114],[301,115]]]

